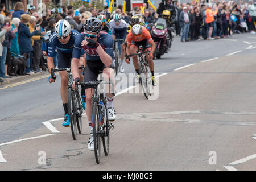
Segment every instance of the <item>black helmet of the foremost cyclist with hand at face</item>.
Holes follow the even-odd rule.
[[[95,17],[91,17],[84,22],[84,31],[88,32],[100,32],[102,29],[101,20]]]

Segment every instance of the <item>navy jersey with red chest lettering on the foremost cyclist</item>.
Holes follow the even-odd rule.
[[[85,39],[84,32],[79,34],[75,40],[75,45],[72,52],[72,58],[79,59],[80,52],[82,55],[86,53],[86,60],[88,61],[98,61],[101,60],[98,55],[96,47],[84,46],[81,47],[82,40]],[[113,38],[106,32],[101,31],[100,35],[97,38],[97,42],[101,45],[104,51],[113,59]],[[81,51],[82,50],[82,51]]]

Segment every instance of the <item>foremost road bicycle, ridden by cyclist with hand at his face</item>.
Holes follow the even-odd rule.
[[[114,129],[114,125],[109,122],[106,108],[106,94],[104,84],[110,84],[105,81],[88,81],[80,82],[80,85],[90,85],[94,89],[92,96],[92,127],[94,140],[94,154],[96,163],[100,163],[101,158],[101,140],[105,155],[109,154],[110,129]]]

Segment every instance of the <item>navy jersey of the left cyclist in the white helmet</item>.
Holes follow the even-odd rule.
[[[55,32],[49,37],[49,46],[48,46],[48,56],[54,57],[55,56],[55,48],[57,52],[63,53],[72,53],[76,36],[79,35],[79,32],[76,30],[71,29],[70,39],[67,44],[61,44],[58,40]]]

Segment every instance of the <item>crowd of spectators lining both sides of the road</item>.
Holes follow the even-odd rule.
[[[171,0],[166,0],[170,1]],[[248,3],[236,3],[233,1],[219,1],[213,3],[191,1],[183,3],[174,1],[175,18],[171,20],[171,26],[175,27],[176,36],[180,36],[181,42],[189,40],[213,40],[233,36],[234,33],[251,32],[255,34],[256,8],[254,1]],[[42,72],[42,53],[47,55],[49,35],[54,32],[55,24],[60,19],[66,19],[71,28],[82,32],[85,20],[91,16],[97,17],[105,14],[108,20],[112,15],[119,13],[127,23],[133,15],[139,15],[141,21],[146,24],[154,23],[159,14],[147,3],[141,8],[134,7],[130,12],[123,13],[123,6],[110,13],[108,6],[97,10],[86,9],[82,6],[79,15],[75,16],[73,6],[61,6],[61,13],[46,10],[44,16],[40,16],[34,6],[26,12],[22,2],[17,2],[13,13],[0,5],[0,80],[10,78],[13,73],[9,72],[10,56],[18,58],[27,53],[26,74]],[[47,33],[48,32],[48,33]],[[57,67],[57,57],[54,59]]]

